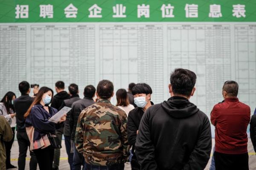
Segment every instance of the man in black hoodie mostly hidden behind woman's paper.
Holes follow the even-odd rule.
[[[64,89],[65,89],[64,82],[58,81],[55,83],[55,90],[57,94],[53,96],[51,107],[56,108],[58,111],[61,110],[62,102],[66,99],[70,99],[70,95],[67,93],[67,91],[64,91]],[[56,130],[56,135],[58,136],[60,141],[62,139],[63,129],[64,129],[64,124],[61,128]],[[55,149],[53,165],[52,165],[53,170],[58,170],[58,166],[60,163],[60,156],[61,156],[61,150]]]

